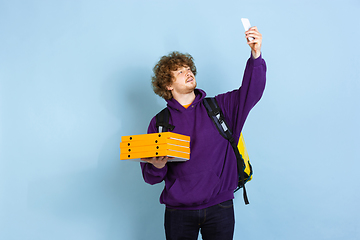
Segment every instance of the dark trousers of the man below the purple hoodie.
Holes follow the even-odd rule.
[[[197,240],[199,230],[204,240],[232,240],[234,227],[232,200],[201,210],[165,210],[167,240]]]

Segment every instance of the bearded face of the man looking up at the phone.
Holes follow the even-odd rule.
[[[168,86],[168,90],[174,94],[188,94],[196,88],[195,75],[190,67],[179,67],[176,71],[171,71],[173,82]]]

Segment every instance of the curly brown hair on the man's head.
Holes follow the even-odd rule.
[[[151,78],[151,83],[154,92],[166,100],[171,99],[173,97],[172,93],[166,88],[173,82],[173,74],[171,71],[176,71],[180,67],[185,66],[190,67],[194,76],[196,76],[194,59],[190,54],[175,51],[167,56],[161,57],[153,68],[154,75]]]

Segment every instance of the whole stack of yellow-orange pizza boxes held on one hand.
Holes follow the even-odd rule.
[[[149,133],[121,137],[120,160],[168,156],[169,161],[190,159],[190,137],[173,132]]]

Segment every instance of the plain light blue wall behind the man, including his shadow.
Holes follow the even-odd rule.
[[[0,239],[164,239],[163,185],[119,160],[165,106],[152,67],[193,55],[237,88],[263,34],[267,86],[243,130],[255,169],[235,239],[360,238],[360,2],[0,0]]]

